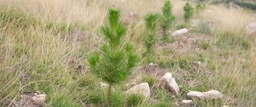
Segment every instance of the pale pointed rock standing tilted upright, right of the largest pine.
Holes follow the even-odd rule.
[[[163,77],[163,84],[167,88],[167,90],[171,91],[173,94],[179,94],[180,88],[178,84],[175,82],[175,79],[172,77],[171,73],[166,73]]]

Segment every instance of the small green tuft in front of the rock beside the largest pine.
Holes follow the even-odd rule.
[[[137,95],[137,94],[130,94],[127,96],[127,106],[136,106],[139,105],[143,102],[145,97],[142,95]]]

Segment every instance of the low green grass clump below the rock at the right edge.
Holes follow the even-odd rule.
[[[250,42],[247,38],[239,36],[233,32],[224,32],[218,35],[217,46],[222,48],[241,47],[243,49],[250,48]]]

